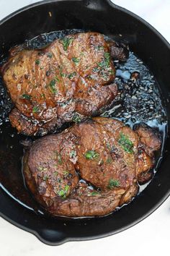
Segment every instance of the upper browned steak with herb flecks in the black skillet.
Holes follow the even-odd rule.
[[[55,40],[42,50],[17,49],[1,71],[16,108],[9,119],[19,132],[44,135],[97,114],[117,95],[110,43],[99,33]]]

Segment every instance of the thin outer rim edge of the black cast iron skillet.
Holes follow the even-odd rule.
[[[12,14],[9,14],[8,16],[4,17],[1,21],[0,21],[0,26],[4,24],[4,22],[12,19],[12,17],[17,16],[17,14],[22,13],[28,9],[32,9],[34,7],[39,7],[43,4],[53,4],[55,2],[60,2],[60,1],[66,1],[66,2],[86,2],[86,0],[44,0],[44,1],[38,1],[34,4],[29,4],[26,7],[22,7],[20,9],[18,9],[15,12],[12,12]],[[91,1],[97,1],[97,0],[91,0]],[[145,25],[146,27],[148,27],[149,30],[152,30],[152,32],[154,34],[156,34],[158,36],[158,38],[161,39],[161,41],[166,45],[166,47],[169,49],[170,51],[170,43],[164,38],[163,35],[161,35],[161,33],[158,32],[158,30],[156,30],[152,25],[150,25],[148,22],[146,22],[146,20],[143,20],[143,18],[139,17],[137,14],[134,14],[133,12],[128,11],[127,9],[123,8],[123,7],[119,7],[116,4],[113,4],[111,0],[98,0],[98,1],[103,1],[104,4],[108,4],[109,8],[115,8],[117,10],[120,10],[121,12],[125,12],[126,14],[129,14],[131,17],[135,18],[136,20],[138,20],[139,22],[143,23],[143,25]],[[98,2],[97,1],[97,2]],[[168,126],[169,127],[169,126]],[[0,187],[2,188],[1,184]],[[3,189],[4,192],[4,189]],[[4,192],[5,193],[5,192]],[[161,198],[161,200],[158,200],[158,202],[156,203],[155,206],[153,206],[151,208],[151,210],[148,210],[146,214],[144,214],[142,217],[138,218],[138,220],[135,221],[131,221],[129,225],[123,226],[122,228],[116,230],[116,231],[110,231],[110,232],[102,232],[99,235],[94,235],[94,236],[68,236],[68,237],[59,237],[57,241],[55,242],[51,242],[50,239],[45,239],[45,236],[43,237],[43,235],[41,234],[40,231],[35,229],[30,229],[27,227],[27,223],[24,226],[23,224],[20,224],[17,221],[13,221],[12,218],[9,218],[8,216],[6,216],[4,213],[1,212],[0,209],[0,217],[4,218],[6,221],[8,221],[9,223],[12,223],[14,226],[17,226],[19,229],[22,229],[24,231],[28,231],[31,234],[34,234],[35,236],[37,236],[38,239],[40,239],[41,242],[48,244],[48,245],[60,245],[63,244],[64,242],[73,242],[73,241],[85,241],[85,240],[91,240],[91,239],[99,239],[99,238],[103,238],[106,236],[111,236],[113,234],[117,234],[120,233],[121,231],[124,231],[126,229],[129,229],[130,227],[134,226],[137,223],[140,223],[140,221],[143,221],[146,217],[150,216],[151,213],[153,213],[159,206],[161,206],[164,201],[169,197],[170,195],[170,187],[169,190],[165,193],[164,197]]]

